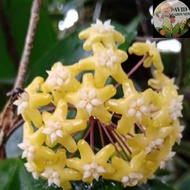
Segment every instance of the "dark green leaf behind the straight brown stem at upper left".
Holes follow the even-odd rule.
[[[4,2],[11,32],[20,56],[23,51],[29,25],[32,2],[32,0]],[[35,64],[37,60],[41,58],[41,55],[44,55],[56,43],[56,41],[56,34],[51,26],[51,20],[47,8],[42,4],[40,9],[40,19],[37,25],[31,52],[29,69],[33,68],[33,64]]]

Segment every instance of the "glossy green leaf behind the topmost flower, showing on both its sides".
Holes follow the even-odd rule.
[[[127,26],[112,22],[116,29],[126,38],[126,42],[120,46],[120,49],[126,50],[129,47],[137,34],[136,30],[139,23],[139,16],[135,17]],[[87,27],[89,27],[89,24],[84,25],[69,34],[66,38],[50,47],[45,54],[42,54],[41,57],[39,57],[39,60],[31,65],[27,82],[31,82],[31,80],[37,75],[43,77],[47,76],[45,71],[50,70],[51,66],[57,61],[61,61],[65,65],[71,65],[78,62],[80,59],[87,57],[90,52],[83,50],[82,46],[84,41],[78,39],[78,33],[83,28]]]

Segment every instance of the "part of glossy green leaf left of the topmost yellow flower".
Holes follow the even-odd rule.
[[[55,62],[61,61],[64,65],[71,65],[78,62],[79,59],[87,57],[89,52],[83,50],[83,42],[78,39],[80,30],[81,28],[69,34],[41,55],[39,60],[31,65],[27,83],[38,75],[46,77],[46,70],[50,70]]]

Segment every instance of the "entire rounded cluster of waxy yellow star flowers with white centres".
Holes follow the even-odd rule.
[[[35,179],[63,189],[99,178],[123,187],[145,183],[175,154],[183,96],[163,74],[155,44],[134,43],[128,50],[154,68],[149,88],[140,92],[122,69],[128,56],[117,45],[125,39],[110,21],[97,20],[79,38],[91,56],[71,66],[55,63],[46,79],[36,77],[14,102],[25,120],[18,145],[25,166]],[[116,98],[119,85],[123,95]]]

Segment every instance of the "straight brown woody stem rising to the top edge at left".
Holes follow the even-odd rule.
[[[25,46],[20,61],[19,71],[14,88],[22,88],[24,80],[26,78],[31,50],[33,47],[34,36],[39,21],[40,5],[41,5],[41,0],[34,0],[31,10],[30,24],[28,27]]]

